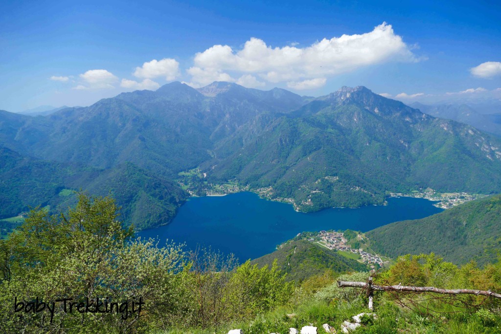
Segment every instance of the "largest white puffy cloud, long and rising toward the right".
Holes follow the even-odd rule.
[[[419,61],[410,49],[391,25],[383,23],[369,33],[323,39],[305,48],[272,48],[258,38],[245,42],[241,50],[214,45],[195,55],[187,73],[195,86],[221,80],[235,82],[231,77],[235,74],[254,75],[271,83],[290,82],[298,87],[318,86],[327,76],[364,66]]]

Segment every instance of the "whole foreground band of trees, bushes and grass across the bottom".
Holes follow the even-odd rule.
[[[293,281],[277,260],[263,267],[250,261],[238,265],[232,256],[211,250],[185,251],[171,242],[159,248],[153,240],[135,239],[132,227],[124,229],[117,220],[117,210],[111,198],[79,194],[68,213],[33,210],[0,240],[0,332],[287,333],[310,323],[319,332],[324,323],[339,331],[344,320],[367,310],[364,291],[341,289],[336,280],[365,281],[368,272],[310,270],[314,265]],[[434,254],[406,255],[374,280],[501,291],[501,262],[458,267]],[[122,306],[119,311],[117,305],[116,312],[95,313],[94,306],[86,311],[79,304],[65,311],[59,302],[51,314],[25,312],[16,304],[51,305],[59,298],[121,305],[142,300],[144,306],[140,312]],[[378,293],[377,318],[364,319],[357,332],[499,332],[500,306],[500,300],[475,295]]]

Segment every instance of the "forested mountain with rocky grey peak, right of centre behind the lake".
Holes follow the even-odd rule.
[[[246,125],[242,148],[206,164],[304,210],[381,204],[385,192],[501,191],[501,142],[365,87],[344,87],[288,115]],[[232,145],[232,143],[230,144]],[[224,150],[224,146],[216,150]]]

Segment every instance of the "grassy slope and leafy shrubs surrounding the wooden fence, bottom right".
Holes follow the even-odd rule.
[[[258,316],[214,328],[177,328],[173,333],[226,333],[240,328],[244,333],[288,333],[290,327],[318,327],[328,323],[338,332],[345,320],[368,312],[364,291],[339,288],[335,281],[365,281],[369,273],[315,275],[296,286],[288,302]],[[480,269],[474,262],[457,267],[434,254],[399,257],[388,271],[376,275],[379,284],[433,285],[444,288],[501,290],[501,262]],[[474,295],[382,293],[375,295],[376,318],[368,318],[358,333],[498,333],[501,330],[501,300]]]

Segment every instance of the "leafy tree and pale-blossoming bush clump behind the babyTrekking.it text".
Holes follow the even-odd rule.
[[[132,240],[133,227],[122,227],[112,198],[78,197],[67,213],[30,211],[18,230],[0,241],[0,332],[133,333],[166,327],[180,307],[175,273],[183,265],[181,248]],[[61,298],[128,306],[119,312],[117,304],[111,313],[65,312],[65,303],[55,302]],[[54,312],[14,312],[15,300],[55,302]],[[132,312],[132,301],[144,302],[143,311]]]

